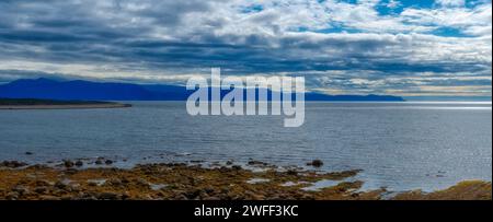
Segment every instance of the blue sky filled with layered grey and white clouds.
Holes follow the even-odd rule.
[[[309,91],[491,96],[491,0],[2,0],[0,83],[305,77]]]

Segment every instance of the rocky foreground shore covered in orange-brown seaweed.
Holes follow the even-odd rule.
[[[58,165],[0,162],[0,200],[491,200],[490,182],[461,182],[445,190],[410,190],[389,195],[385,188],[360,190],[364,182],[351,180],[360,171],[322,173],[301,167],[275,170],[251,161],[256,171],[232,162],[202,164],[159,163],[133,168],[100,167],[64,161]],[[261,171],[259,171],[261,170]],[[312,186],[323,180],[328,187]]]

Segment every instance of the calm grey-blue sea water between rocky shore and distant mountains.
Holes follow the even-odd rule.
[[[492,177],[491,103],[307,103],[300,128],[284,128],[278,116],[191,117],[180,102],[133,104],[0,110],[0,161],[254,159],[303,166],[320,159],[324,171],[360,168],[366,188],[395,191]]]

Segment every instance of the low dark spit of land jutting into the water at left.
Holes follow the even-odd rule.
[[[0,98],[0,109],[79,109],[124,108],[130,104],[101,101],[57,101],[37,98]]]

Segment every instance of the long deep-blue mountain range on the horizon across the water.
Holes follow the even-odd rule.
[[[210,90],[210,89],[209,89]],[[0,97],[79,101],[186,101],[193,91],[184,86],[23,79],[0,85]],[[225,95],[228,91],[221,91]],[[306,93],[306,101],[404,101],[390,95],[325,95]]]

